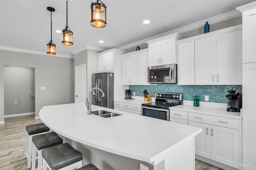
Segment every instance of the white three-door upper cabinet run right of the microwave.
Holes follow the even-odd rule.
[[[242,84],[242,25],[179,40],[177,49],[179,85]]]

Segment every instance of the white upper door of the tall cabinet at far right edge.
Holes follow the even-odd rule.
[[[243,63],[256,63],[256,9],[243,12]]]

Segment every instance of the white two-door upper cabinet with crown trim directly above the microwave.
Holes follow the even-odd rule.
[[[148,66],[177,64],[176,40],[183,38],[185,37],[178,33],[174,33],[151,41],[147,41]]]

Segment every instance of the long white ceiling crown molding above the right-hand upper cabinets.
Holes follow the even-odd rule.
[[[170,34],[173,34],[173,33],[184,33],[186,31],[197,29],[197,28],[203,27],[204,24],[205,24],[205,21],[208,21],[211,24],[213,24],[213,23],[217,23],[217,22],[220,22],[220,21],[224,21],[224,20],[228,20],[228,19],[231,19],[231,18],[235,18],[237,16],[239,16],[238,12],[236,10],[233,10],[233,11],[226,12],[226,13],[218,15],[218,16],[214,16],[212,18],[208,18],[206,20],[198,21],[196,23],[192,23],[192,24],[186,25],[184,27],[180,27],[180,28],[177,28],[177,29],[174,29],[174,30],[162,33],[162,34],[155,35],[153,37],[149,37],[149,38],[146,38],[146,39],[142,39],[140,41],[136,41],[134,43],[130,43],[128,45],[124,45],[124,46],[118,47],[116,49],[125,50],[125,49],[129,49],[129,48],[135,47],[137,45],[145,44],[146,41],[151,41],[153,39],[157,39],[157,38],[160,38],[160,37],[163,37],[163,36],[166,36],[166,35],[170,35]]]

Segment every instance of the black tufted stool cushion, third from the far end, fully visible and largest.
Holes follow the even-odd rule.
[[[83,155],[69,143],[62,143],[42,150],[42,156],[52,170],[58,170],[83,159]]]

